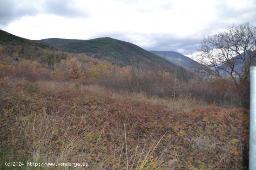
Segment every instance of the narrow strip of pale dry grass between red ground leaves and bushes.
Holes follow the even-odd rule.
[[[50,89],[53,91],[60,91],[63,89],[74,89],[77,82],[53,82],[53,81],[38,81],[37,85],[40,89]],[[87,90],[95,94],[102,96],[111,96],[119,101],[140,101],[151,105],[162,105],[168,107],[169,110],[175,112],[189,112],[195,107],[209,107],[204,101],[195,100],[190,96],[180,97],[176,100],[171,98],[161,98],[157,96],[148,96],[144,93],[132,93],[128,91],[115,91],[101,87],[99,85],[81,85],[79,84],[79,90]]]

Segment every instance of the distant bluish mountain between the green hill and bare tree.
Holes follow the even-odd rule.
[[[152,52],[155,55],[158,55],[167,61],[174,63],[176,65],[179,65],[185,69],[192,69],[197,66],[200,66],[199,63],[197,63],[195,60],[184,56],[181,53],[175,52],[175,51],[154,51],[150,50],[149,52]]]

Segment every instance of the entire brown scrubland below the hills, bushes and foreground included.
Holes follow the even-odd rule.
[[[12,170],[247,169],[248,82],[72,57],[0,64],[0,169],[7,161],[88,163]]]

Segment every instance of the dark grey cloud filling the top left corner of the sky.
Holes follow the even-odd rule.
[[[13,20],[20,19],[26,15],[35,15],[38,12],[37,9],[26,2],[22,1],[20,3],[20,0],[0,0],[0,25],[7,25]]]

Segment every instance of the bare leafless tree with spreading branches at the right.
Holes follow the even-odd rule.
[[[249,79],[249,67],[256,63],[256,26],[233,25],[204,37],[196,60],[203,64],[203,76],[229,76],[236,86]]]

